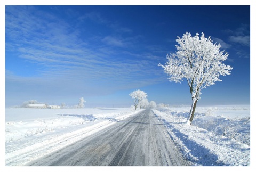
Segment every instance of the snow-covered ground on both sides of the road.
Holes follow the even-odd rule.
[[[5,109],[5,165],[22,166],[130,117],[133,109]],[[250,165],[250,105],[153,109],[195,166]]]

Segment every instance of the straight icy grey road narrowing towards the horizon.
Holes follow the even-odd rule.
[[[189,166],[150,109],[26,166]]]

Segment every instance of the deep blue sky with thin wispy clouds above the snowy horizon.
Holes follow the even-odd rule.
[[[49,104],[191,104],[185,81],[167,80],[159,63],[185,32],[204,32],[228,52],[230,76],[202,91],[199,105],[250,104],[250,6],[5,6],[6,107]]]

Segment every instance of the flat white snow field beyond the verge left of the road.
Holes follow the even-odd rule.
[[[131,113],[130,109],[6,109],[5,142],[21,140],[30,136],[54,132],[84,124],[95,124],[103,120]],[[90,123],[90,124],[87,124]]]

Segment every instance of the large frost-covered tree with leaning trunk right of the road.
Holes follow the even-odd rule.
[[[213,44],[211,37],[205,38],[204,33],[200,37],[199,34],[191,37],[190,33],[186,32],[182,38],[178,37],[176,42],[179,44],[176,45],[177,52],[167,54],[167,62],[159,66],[170,76],[170,81],[181,83],[183,79],[187,80],[192,97],[187,124],[191,125],[201,90],[221,81],[220,75],[230,75],[232,67],[222,63],[227,60],[228,53],[220,51],[220,44]]]

